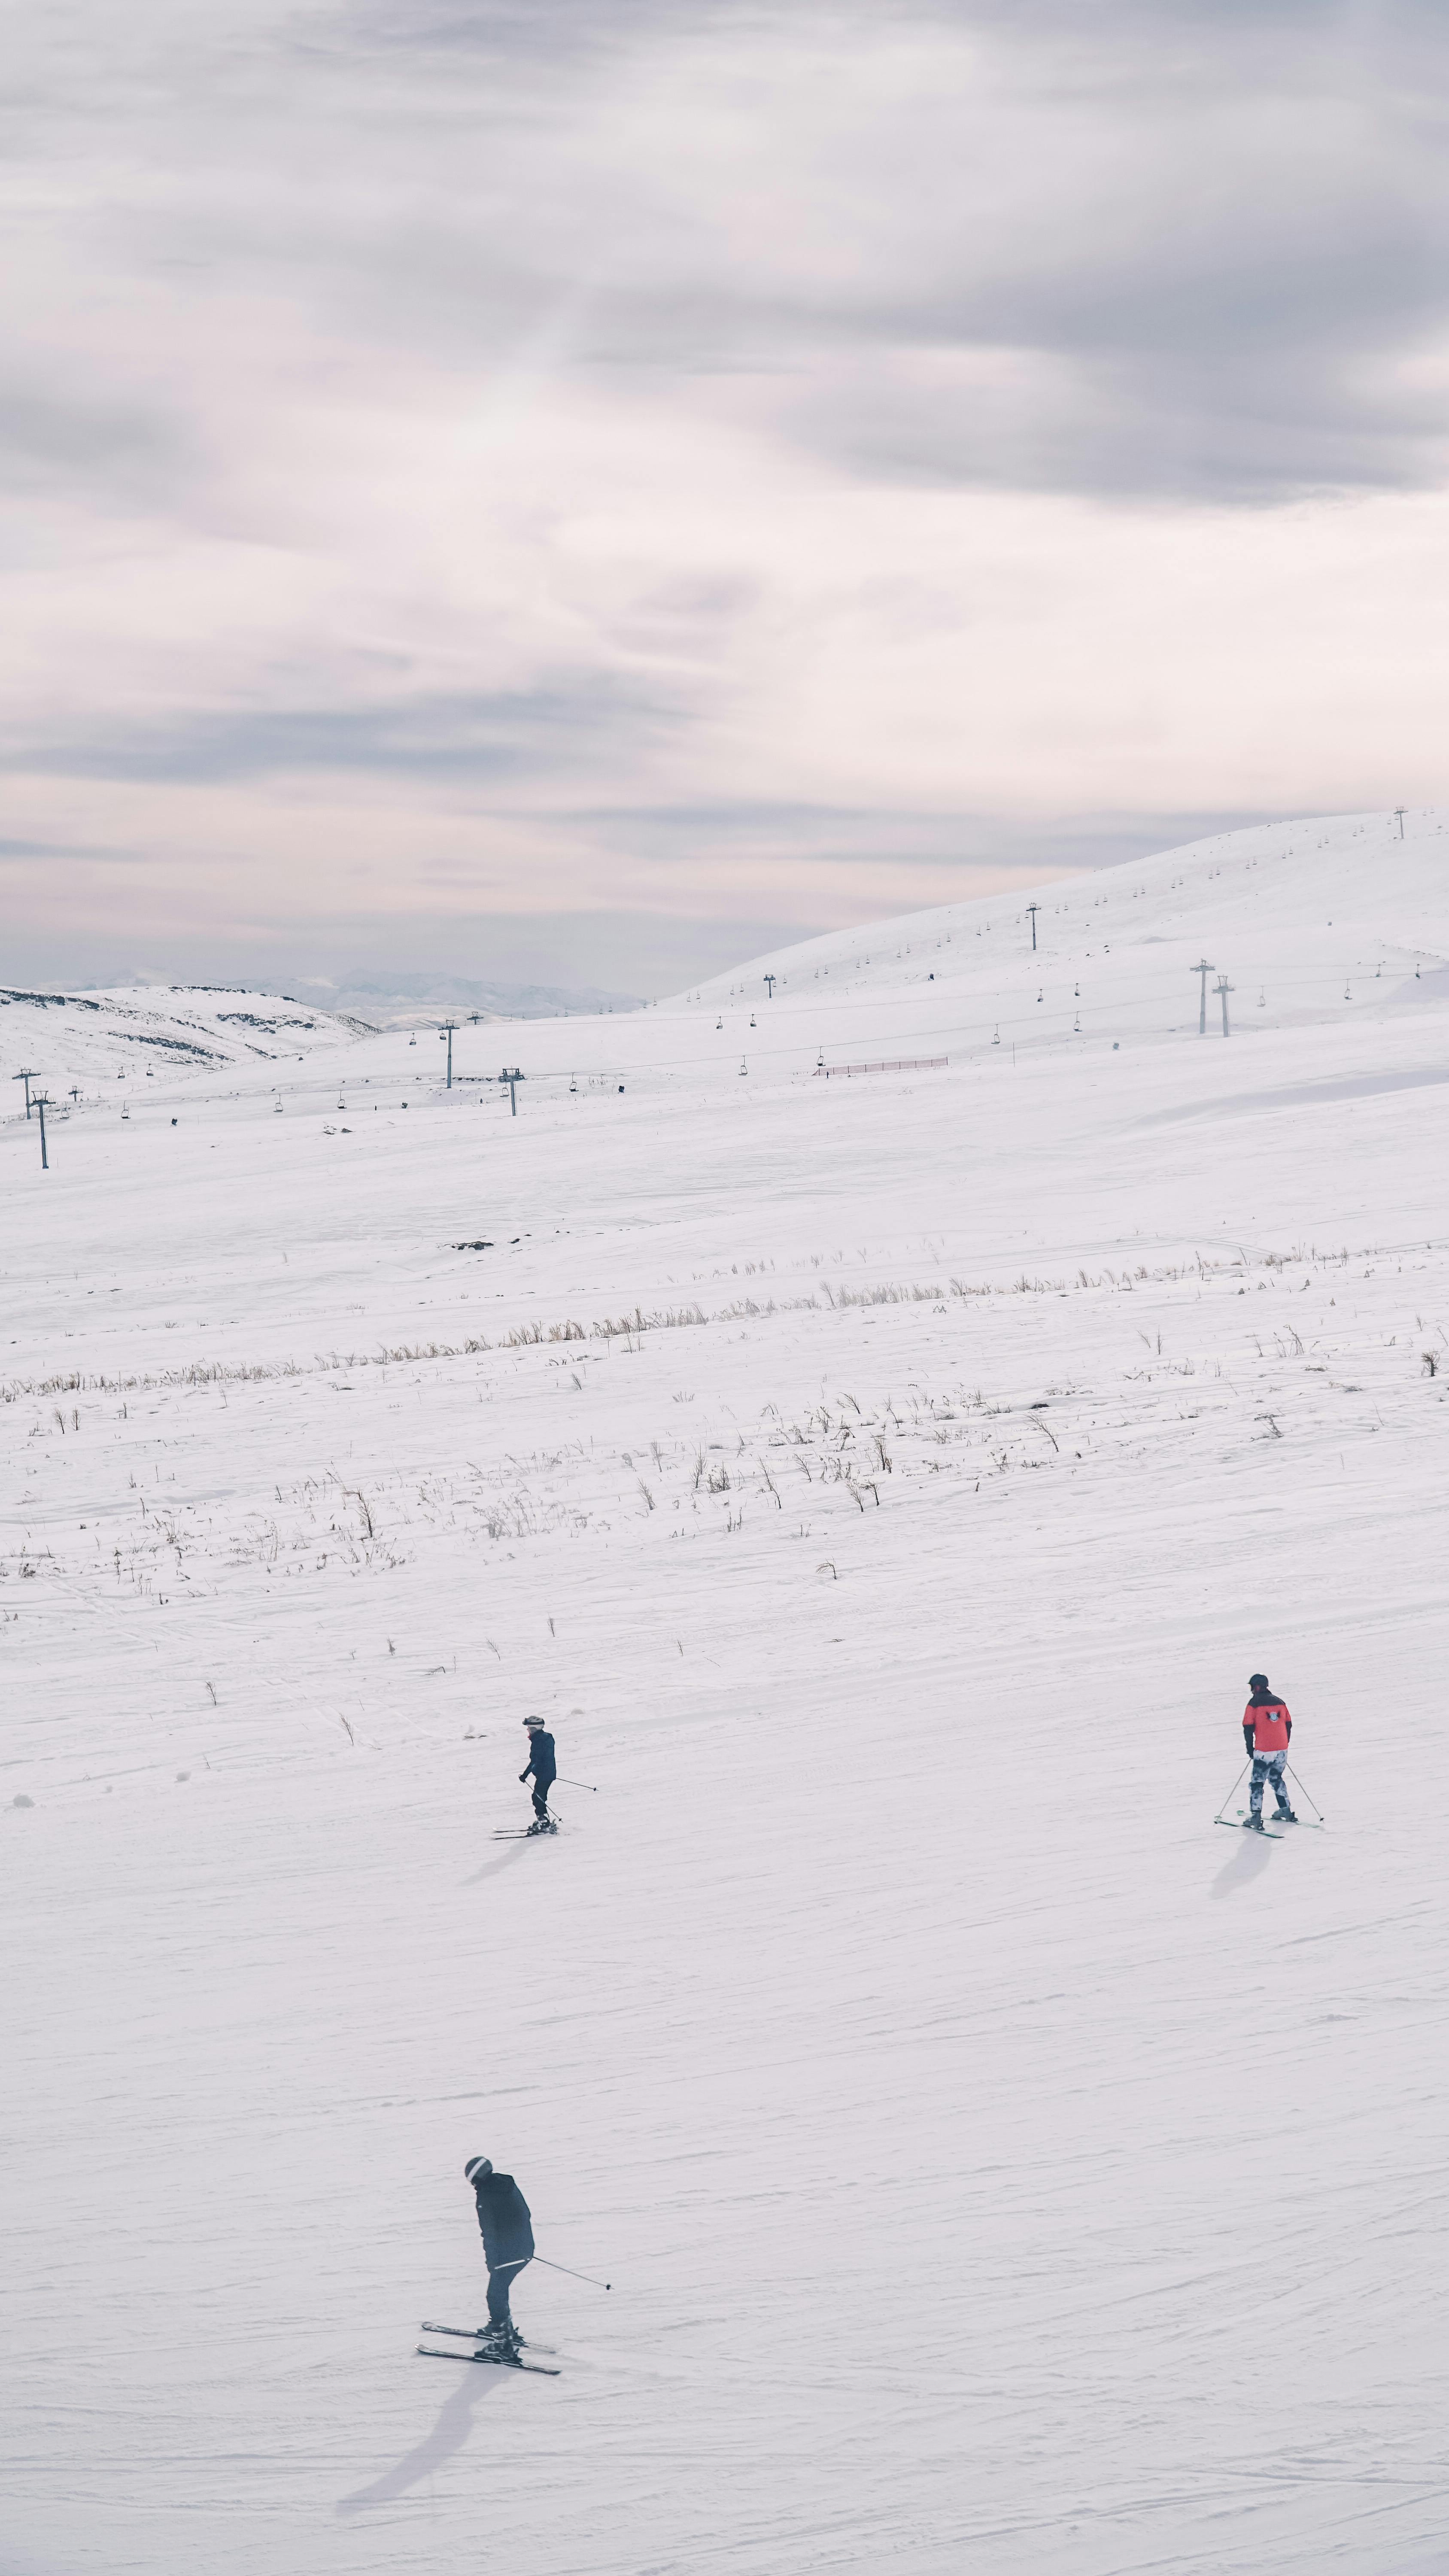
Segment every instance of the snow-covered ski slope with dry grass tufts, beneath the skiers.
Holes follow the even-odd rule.
[[[322,1036],[5,1087],[5,2576],[1446,2568],[1449,814]]]

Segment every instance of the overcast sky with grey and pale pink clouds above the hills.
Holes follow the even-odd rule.
[[[665,992],[1444,796],[1444,15],[46,0],[5,974]]]

